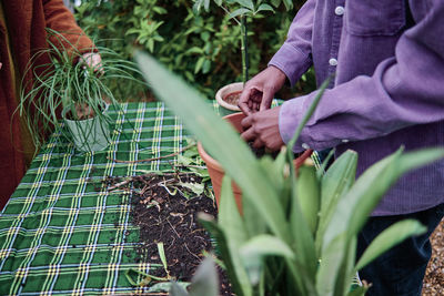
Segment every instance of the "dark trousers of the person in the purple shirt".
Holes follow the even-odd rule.
[[[425,269],[432,255],[428,237],[443,215],[444,204],[423,212],[371,217],[367,221],[357,238],[357,258],[382,231],[398,221],[417,220],[427,226],[427,233],[405,239],[360,271],[361,279],[372,283],[366,295],[421,295]]]

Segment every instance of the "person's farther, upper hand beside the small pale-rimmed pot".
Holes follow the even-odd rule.
[[[284,85],[286,75],[270,65],[245,83],[239,108],[245,115],[270,109],[274,94]]]

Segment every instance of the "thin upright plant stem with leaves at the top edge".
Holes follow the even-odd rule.
[[[249,80],[249,43],[248,43],[248,30],[246,30],[246,18],[254,18],[265,11],[274,13],[274,8],[278,8],[281,2],[284,3],[285,9],[289,11],[293,8],[293,1],[291,0],[273,0],[270,3],[263,0],[214,0],[214,2],[221,7],[228,14],[229,19],[233,19],[240,27],[241,30],[241,51],[242,51],[242,78],[243,83]],[[195,0],[193,10],[199,13],[202,7],[209,11],[210,0]],[[273,8],[274,7],[274,8]]]

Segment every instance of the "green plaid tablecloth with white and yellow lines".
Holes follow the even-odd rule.
[[[130,268],[148,273],[150,267],[134,259],[139,229],[130,223],[130,197],[100,190],[101,182],[138,170],[170,169],[171,159],[111,160],[178,152],[185,132],[163,103],[122,104],[111,115],[115,129],[105,151],[79,153],[51,136],[0,213],[0,295],[147,292],[124,276]]]

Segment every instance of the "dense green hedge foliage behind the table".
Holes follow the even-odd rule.
[[[286,38],[287,29],[304,0],[283,4],[274,14],[249,19],[250,72],[266,67]],[[152,53],[170,70],[182,75],[206,98],[228,83],[242,81],[240,27],[220,8],[195,16],[192,0],[82,0],[75,17],[83,30],[100,45],[132,59],[134,48]],[[121,86],[120,86],[121,88]],[[279,93],[292,98],[314,88],[312,72],[295,89]],[[152,95],[140,85],[125,84],[121,95],[129,100]]]

